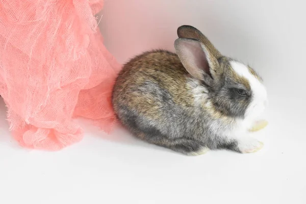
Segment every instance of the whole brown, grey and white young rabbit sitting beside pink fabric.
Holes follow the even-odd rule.
[[[145,52],[123,65],[112,93],[118,120],[137,138],[185,155],[255,152],[248,135],[266,125],[262,78],[225,57],[191,25],[177,29],[176,53]]]

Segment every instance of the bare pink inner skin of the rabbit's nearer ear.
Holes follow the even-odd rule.
[[[200,42],[196,40],[184,41],[183,47],[186,49],[186,58],[190,64],[194,66],[195,69],[199,69],[206,73],[210,73],[209,64],[207,61],[207,56],[203,51]]]

